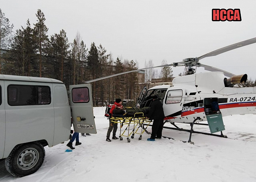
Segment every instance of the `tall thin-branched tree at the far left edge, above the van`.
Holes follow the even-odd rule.
[[[0,50],[8,49],[13,33],[13,24],[10,25],[9,19],[5,17],[4,13],[0,9]],[[2,58],[0,54],[0,74],[2,67]]]

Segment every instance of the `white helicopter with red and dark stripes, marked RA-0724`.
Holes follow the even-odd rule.
[[[140,107],[150,107],[153,95],[157,95],[158,99],[163,103],[164,123],[171,123],[174,127],[164,127],[167,129],[182,130],[190,132],[188,142],[191,142],[192,133],[202,133],[213,136],[223,135],[225,130],[222,117],[232,114],[256,114],[256,87],[254,88],[237,88],[234,84],[246,82],[247,75],[233,75],[230,72],[220,70],[211,66],[199,63],[202,58],[219,55],[236,48],[256,43],[256,38],[248,39],[243,42],[217,49],[197,58],[186,58],[183,62],[174,62],[169,65],[161,65],[151,68],[164,66],[186,66],[186,76],[176,77],[171,84],[159,85],[147,90],[143,88],[138,97],[137,105]],[[194,73],[193,67],[202,66],[205,70],[213,72]],[[139,71],[149,68],[142,68],[133,71]],[[115,75],[97,78],[93,81],[110,78],[117,75],[130,73],[126,71]],[[209,125],[210,133],[197,132],[193,130],[194,124],[206,121]],[[191,129],[185,130],[179,128],[175,123],[190,123]],[[221,132],[220,135],[213,133]]]

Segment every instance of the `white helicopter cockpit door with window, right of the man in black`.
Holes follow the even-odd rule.
[[[169,88],[163,102],[164,115],[167,117],[181,117],[185,96],[184,89]]]

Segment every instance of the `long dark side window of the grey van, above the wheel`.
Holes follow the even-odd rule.
[[[11,84],[7,87],[7,94],[10,106],[51,103],[51,92],[48,86]]]

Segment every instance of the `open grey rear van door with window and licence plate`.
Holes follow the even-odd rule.
[[[92,85],[70,85],[69,91],[71,116],[75,132],[96,134],[92,107]]]

